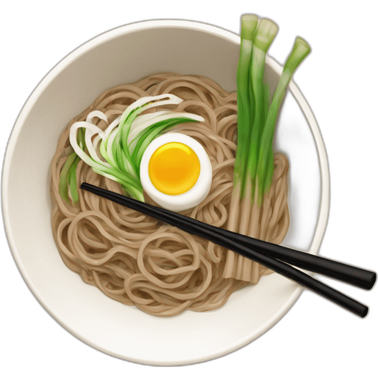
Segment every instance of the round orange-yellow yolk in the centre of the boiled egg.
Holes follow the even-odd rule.
[[[199,177],[200,163],[186,144],[170,142],[160,146],[150,158],[148,173],[154,187],[165,194],[188,191]]]

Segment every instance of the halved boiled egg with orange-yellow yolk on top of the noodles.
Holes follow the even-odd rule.
[[[140,164],[143,189],[161,207],[181,212],[202,202],[210,191],[213,170],[200,143],[168,132],[146,148]]]

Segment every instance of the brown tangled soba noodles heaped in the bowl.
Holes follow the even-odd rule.
[[[181,124],[174,129],[200,142],[213,167],[207,198],[182,214],[227,227],[237,138],[236,93],[227,93],[202,76],[164,72],[109,89],[69,123],[51,164],[52,228],[65,265],[84,282],[146,313],[170,316],[185,309],[219,308],[232,292],[257,283],[271,271],[88,191],[79,190],[79,202],[75,206],[67,205],[59,195],[60,171],[72,152],[69,128],[74,122],[85,120],[95,109],[104,112],[112,122],[136,99],[163,93],[184,99],[179,105],[170,105],[170,110],[199,114],[206,120],[203,124]],[[104,129],[106,124],[98,120],[97,126]],[[251,236],[278,244],[289,224],[288,161],[284,155],[275,154],[274,162],[269,196],[261,209],[252,208],[258,227]],[[76,177],[78,185],[88,182],[122,193],[118,183],[94,173],[83,161],[78,164]],[[155,204],[147,195],[145,198],[146,202]]]

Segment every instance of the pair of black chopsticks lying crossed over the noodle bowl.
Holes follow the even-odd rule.
[[[377,273],[374,271],[224,230],[88,183],[81,184],[80,188],[248,257],[353,315],[365,318],[369,314],[365,304],[289,264],[363,290],[372,290],[375,286]]]

